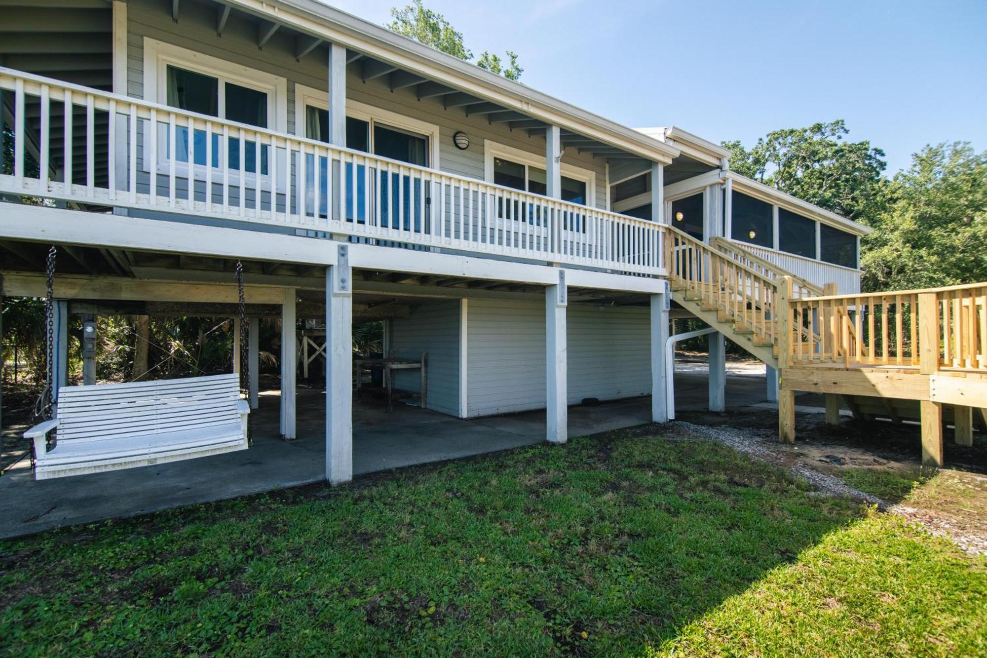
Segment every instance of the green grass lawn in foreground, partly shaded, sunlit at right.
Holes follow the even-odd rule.
[[[0,543],[0,648],[987,653],[987,563],[641,432]]]

